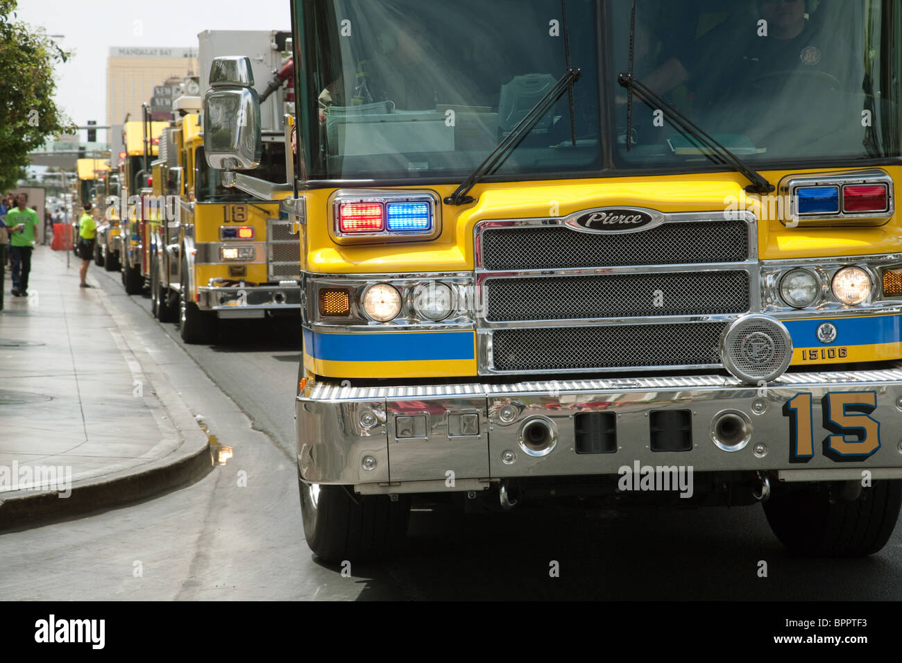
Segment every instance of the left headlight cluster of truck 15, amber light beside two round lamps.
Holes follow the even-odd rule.
[[[391,322],[401,315],[423,322],[440,322],[454,314],[459,303],[456,289],[442,281],[378,282],[355,287],[324,285],[319,287],[317,299],[320,317],[358,318],[363,322],[367,318]],[[355,307],[353,301],[357,302]]]

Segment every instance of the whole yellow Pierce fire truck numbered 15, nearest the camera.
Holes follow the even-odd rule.
[[[295,0],[303,528],[411,499],[762,502],[861,556],[902,502],[891,0]],[[262,198],[249,60],[209,164]],[[294,175],[297,174],[297,177]],[[902,181],[902,180],[900,180]]]

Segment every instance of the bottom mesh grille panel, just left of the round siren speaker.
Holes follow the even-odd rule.
[[[495,371],[589,371],[719,366],[727,323],[496,329]]]

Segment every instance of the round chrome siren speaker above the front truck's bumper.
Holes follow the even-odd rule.
[[[734,320],[721,337],[723,365],[742,382],[770,382],[792,360],[792,337],[782,322],[752,314]]]

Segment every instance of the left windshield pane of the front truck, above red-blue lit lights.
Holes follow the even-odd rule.
[[[308,126],[314,170],[327,178],[463,175],[566,72],[560,0],[318,0],[309,8],[318,48]],[[597,20],[594,3],[567,3],[570,60],[582,69],[573,125],[565,94],[499,173],[601,167]]]

